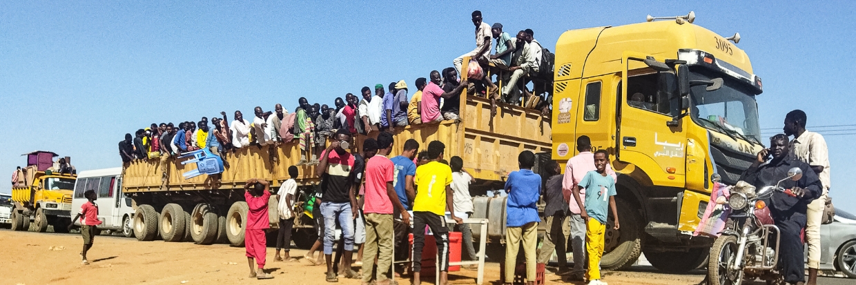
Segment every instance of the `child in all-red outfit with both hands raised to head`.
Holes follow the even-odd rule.
[[[250,179],[244,185],[244,198],[247,199],[247,229],[244,233],[244,246],[247,248],[247,264],[250,265],[250,278],[270,279],[273,276],[265,273],[265,256],[267,255],[267,238],[265,229],[270,228],[268,220],[268,199],[270,199],[270,183],[264,180]],[[259,264],[253,270],[253,258]]]

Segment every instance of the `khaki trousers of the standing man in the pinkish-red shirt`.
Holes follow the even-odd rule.
[[[363,282],[386,281],[392,268],[392,214],[366,213],[366,243],[363,244]],[[377,257],[377,264],[374,258]],[[374,264],[374,266],[372,266]],[[372,274],[372,267],[374,272]]]

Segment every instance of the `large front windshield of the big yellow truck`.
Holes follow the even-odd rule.
[[[743,83],[724,74],[704,68],[691,68],[690,80],[722,78],[722,87],[707,91],[707,86],[693,86],[693,122],[719,133],[744,136],[754,142],[761,141],[758,128],[758,104],[755,95]]]

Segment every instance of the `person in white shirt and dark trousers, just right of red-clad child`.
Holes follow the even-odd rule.
[[[297,261],[288,254],[288,246],[291,244],[291,228],[294,227],[294,217],[296,217],[294,196],[297,193],[297,181],[294,181],[294,178],[297,178],[297,174],[297,166],[289,166],[288,176],[290,177],[287,181],[282,181],[282,186],[276,192],[276,195],[279,196],[279,204],[276,206],[276,210],[279,212],[279,231],[276,233],[276,257],[274,257],[276,261]],[[285,252],[282,257],[279,255],[280,250]]]

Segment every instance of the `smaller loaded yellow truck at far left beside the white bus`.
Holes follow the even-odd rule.
[[[12,187],[12,229],[27,230],[30,222],[39,233],[48,225],[54,232],[68,232],[71,223],[71,201],[77,175],[60,174],[54,166],[51,151],[33,151],[27,154],[27,167],[17,171]],[[68,157],[67,157],[68,160]]]

